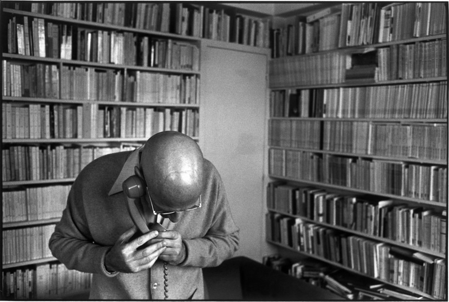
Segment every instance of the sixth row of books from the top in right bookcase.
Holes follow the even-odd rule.
[[[446,211],[282,181],[267,186],[267,207],[410,246],[446,251]]]

